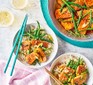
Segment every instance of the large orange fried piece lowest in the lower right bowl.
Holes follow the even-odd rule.
[[[85,83],[87,81],[87,78],[88,78],[87,74],[79,75],[71,80],[71,85],[76,85],[76,84],[82,85],[83,83]]]

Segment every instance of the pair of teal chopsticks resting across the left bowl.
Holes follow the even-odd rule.
[[[19,30],[18,35],[17,35],[17,37],[15,39],[13,49],[12,49],[12,51],[10,53],[8,62],[7,62],[6,66],[5,66],[5,69],[4,69],[4,73],[6,73],[6,71],[8,69],[8,66],[9,66],[9,63],[10,63],[11,58],[12,58],[13,52],[14,52],[14,50],[16,48],[16,45],[17,45],[17,43],[19,41],[18,47],[17,47],[17,51],[16,51],[16,55],[15,55],[15,59],[14,59],[14,63],[13,63],[12,70],[11,70],[11,73],[10,73],[10,76],[12,76],[12,74],[13,74],[13,70],[14,70],[14,67],[15,67],[16,59],[17,59],[17,56],[18,56],[18,51],[20,49],[20,44],[21,44],[21,41],[22,41],[22,36],[23,36],[23,33],[24,33],[24,29],[26,27],[27,20],[28,20],[28,15],[25,15],[25,18],[24,18],[24,21],[22,23],[21,29]]]

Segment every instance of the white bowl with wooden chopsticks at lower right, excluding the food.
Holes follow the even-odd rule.
[[[76,58],[82,58],[85,61],[88,71],[89,71],[89,78],[87,81],[87,85],[93,85],[93,66],[85,56],[78,54],[78,53],[71,52],[71,53],[65,53],[65,54],[60,55],[57,59],[53,61],[50,71],[52,72],[52,69],[58,62],[65,62],[71,59],[71,55],[75,56]],[[51,80],[52,85],[57,85],[52,78],[50,78],[50,80]]]

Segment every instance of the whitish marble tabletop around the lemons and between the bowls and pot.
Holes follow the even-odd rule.
[[[39,0],[29,0],[29,4],[24,10],[13,9],[10,4],[10,0],[0,0],[0,8],[3,7],[9,8],[15,16],[15,21],[12,26],[8,28],[0,27],[0,59],[7,60],[12,49],[14,35],[20,28],[23,17],[26,13],[29,14],[28,23],[35,22],[36,20],[38,20],[43,25],[46,25],[46,22],[42,15]],[[59,38],[58,41],[59,50],[57,56],[65,52],[78,52],[85,55],[93,64],[93,49],[76,47]]]

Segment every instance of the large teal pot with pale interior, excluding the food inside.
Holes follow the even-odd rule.
[[[88,35],[87,38],[76,38],[69,35],[69,33],[67,33],[64,29],[62,29],[61,25],[55,19],[54,16],[56,0],[40,0],[40,3],[41,3],[42,13],[47,24],[56,33],[58,37],[75,46],[83,48],[93,48],[93,38],[92,38],[93,35]]]

